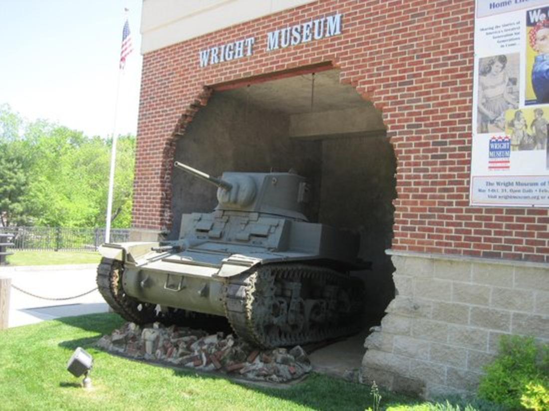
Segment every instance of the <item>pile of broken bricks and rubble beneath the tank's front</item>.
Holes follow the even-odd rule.
[[[291,350],[258,350],[232,334],[208,335],[205,331],[160,323],[140,328],[126,323],[97,346],[127,357],[237,375],[256,381],[285,382],[309,373],[309,357],[300,346]]]

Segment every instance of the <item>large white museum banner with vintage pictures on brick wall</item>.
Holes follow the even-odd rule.
[[[470,204],[549,207],[549,0],[477,0]]]

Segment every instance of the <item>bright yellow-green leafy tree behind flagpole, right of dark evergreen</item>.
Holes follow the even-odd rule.
[[[81,133],[58,127],[40,138],[33,165],[36,178],[29,199],[37,224],[63,227],[103,227],[107,215],[110,140],[82,138]],[[113,227],[128,227],[133,186],[135,137],[119,140]],[[129,207],[128,207],[129,204]]]

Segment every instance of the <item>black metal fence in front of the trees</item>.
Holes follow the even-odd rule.
[[[105,242],[104,228],[0,227],[0,234],[13,234],[15,250],[94,251]],[[110,242],[128,241],[130,229],[112,228]]]

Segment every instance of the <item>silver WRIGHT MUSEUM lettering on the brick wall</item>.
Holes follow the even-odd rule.
[[[326,17],[306,21],[267,33],[265,50],[271,52],[297,44],[321,40],[341,34],[341,17],[343,14],[333,14]],[[255,37],[239,38],[236,41],[200,50],[200,67],[223,63],[247,57],[254,54]]]

